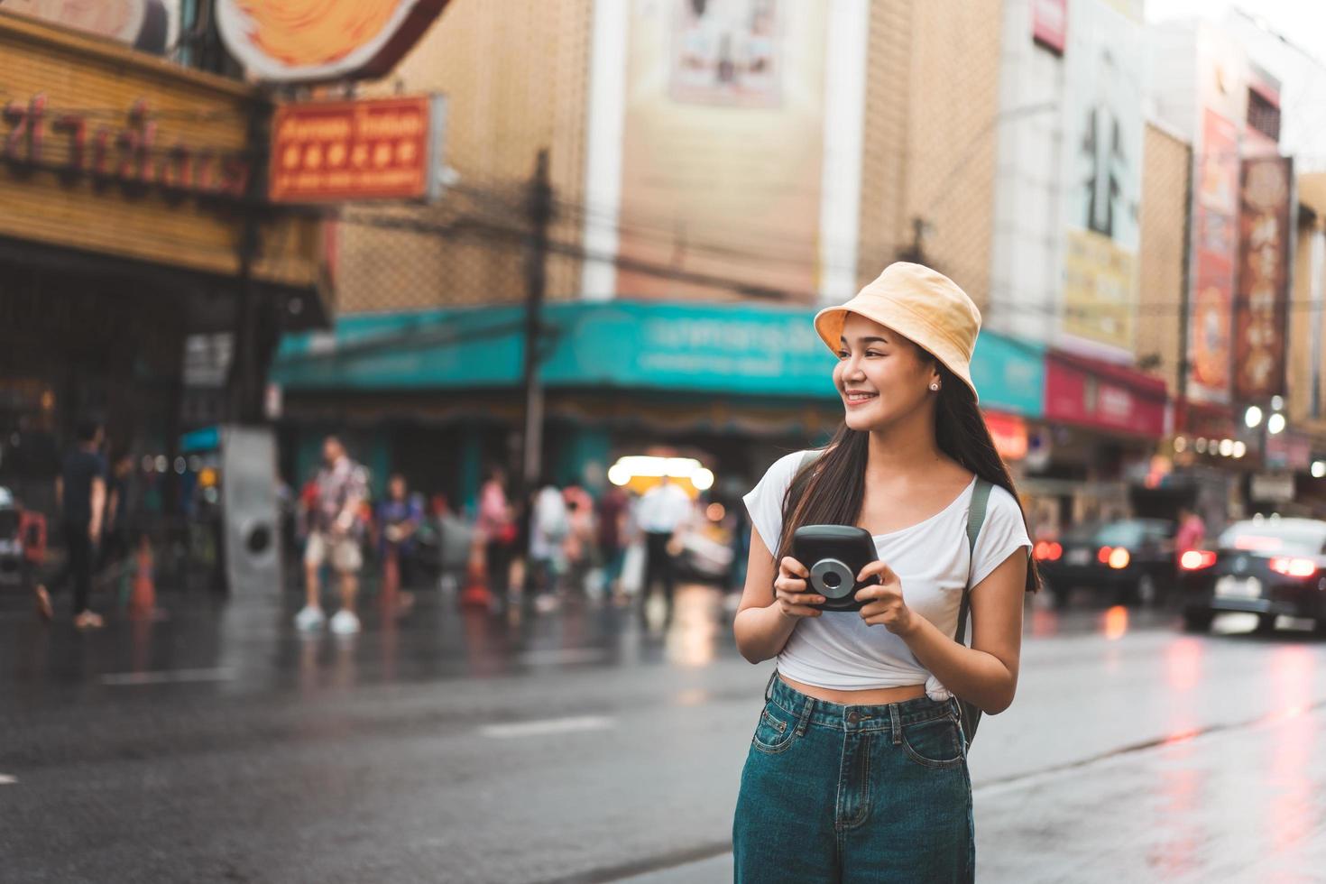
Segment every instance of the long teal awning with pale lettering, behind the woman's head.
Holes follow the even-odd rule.
[[[544,310],[544,383],[833,399],[834,357],[810,307],[646,301],[564,302]],[[301,390],[513,387],[524,363],[520,306],[343,315],[334,333],[286,335],[272,379]],[[1044,351],[981,335],[983,404],[1041,414]]]

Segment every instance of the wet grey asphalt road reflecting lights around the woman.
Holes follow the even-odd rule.
[[[715,592],[666,635],[420,594],[305,637],[293,603],[77,635],[0,596],[0,881],[731,880],[772,664]],[[1250,626],[1030,610],[972,753],[979,880],[1321,880],[1326,643]]]

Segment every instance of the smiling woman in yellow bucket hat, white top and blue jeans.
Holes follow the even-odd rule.
[[[1002,712],[1017,687],[1024,592],[1037,587],[1008,469],[969,374],[980,313],[951,280],[894,264],[815,330],[838,354],[846,416],[821,452],[747,494],[753,531],[737,647],[777,657],[741,773],[736,880],[968,881],[967,744],[955,697]],[[977,477],[992,488],[975,549]],[[859,612],[823,612],[802,525],[858,525],[878,562]],[[956,637],[971,586],[969,647]]]

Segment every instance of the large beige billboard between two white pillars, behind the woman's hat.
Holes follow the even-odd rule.
[[[827,5],[631,0],[619,296],[815,292]]]

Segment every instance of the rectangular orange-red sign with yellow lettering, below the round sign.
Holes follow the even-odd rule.
[[[274,203],[435,196],[440,97],[281,105],[272,123]]]

